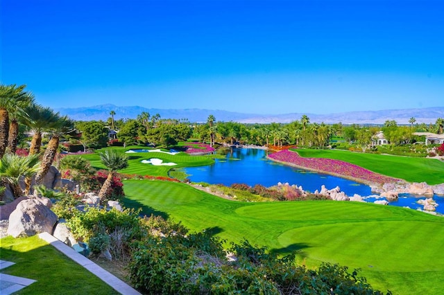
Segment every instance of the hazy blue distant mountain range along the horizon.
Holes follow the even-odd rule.
[[[56,109],[60,114],[74,120],[107,120],[110,111],[115,111],[114,119],[137,118],[143,111],[161,118],[186,118],[190,122],[206,122],[213,115],[216,121],[233,121],[239,123],[290,123],[307,115],[311,123],[343,123],[343,124],[384,124],[386,120],[395,120],[398,124],[409,124],[410,118],[416,123],[435,123],[437,118],[444,118],[444,107],[428,107],[423,109],[386,109],[381,111],[348,111],[332,114],[291,113],[280,115],[245,114],[219,109],[147,109],[145,107],[117,107],[116,105],[96,105],[94,107],[76,107]]]

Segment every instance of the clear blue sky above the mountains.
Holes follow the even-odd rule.
[[[0,3],[1,83],[53,108],[444,106],[444,1]]]

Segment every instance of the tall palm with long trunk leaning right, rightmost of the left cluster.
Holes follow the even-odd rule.
[[[41,169],[35,176],[36,184],[40,184],[42,182],[44,176],[46,175],[46,173],[48,173],[49,168],[51,168],[51,165],[53,164],[54,158],[56,157],[57,154],[58,144],[60,143],[60,137],[69,134],[74,134],[75,132],[74,122],[72,120],[69,120],[67,116],[60,117],[57,123],[54,123],[51,126],[51,132],[52,132],[52,137],[49,140],[46,150],[44,151],[42,157]]]

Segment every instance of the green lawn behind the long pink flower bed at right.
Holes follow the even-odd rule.
[[[444,183],[444,162],[437,159],[401,157],[385,154],[364,154],[344,150],[297,149],[301,157],[327,158],[345,161],[373,172],[409,182]]]

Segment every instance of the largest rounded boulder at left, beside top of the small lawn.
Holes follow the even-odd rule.
[[[37,233],[53,233],[58,217],[36,198],[25,199],[10,214],[8,235],[14,238]]]

